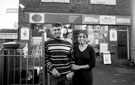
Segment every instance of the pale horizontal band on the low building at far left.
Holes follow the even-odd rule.
[[[0,39],[17,39],[17,33],[0,33]]]

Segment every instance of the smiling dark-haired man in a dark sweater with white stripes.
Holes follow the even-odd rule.
[[[53,25],[54,38],[45,43],[45,57],[51,85],[70,85],[73,72],[73,49],[62,38],[62,24]]]

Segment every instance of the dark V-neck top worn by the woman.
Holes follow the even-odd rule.
[[[74,57],[77,65],[89,65],[87,70],[95,67],[95,51],[89,45],[83,51],[80,51],[79,46],[74,46]]]

